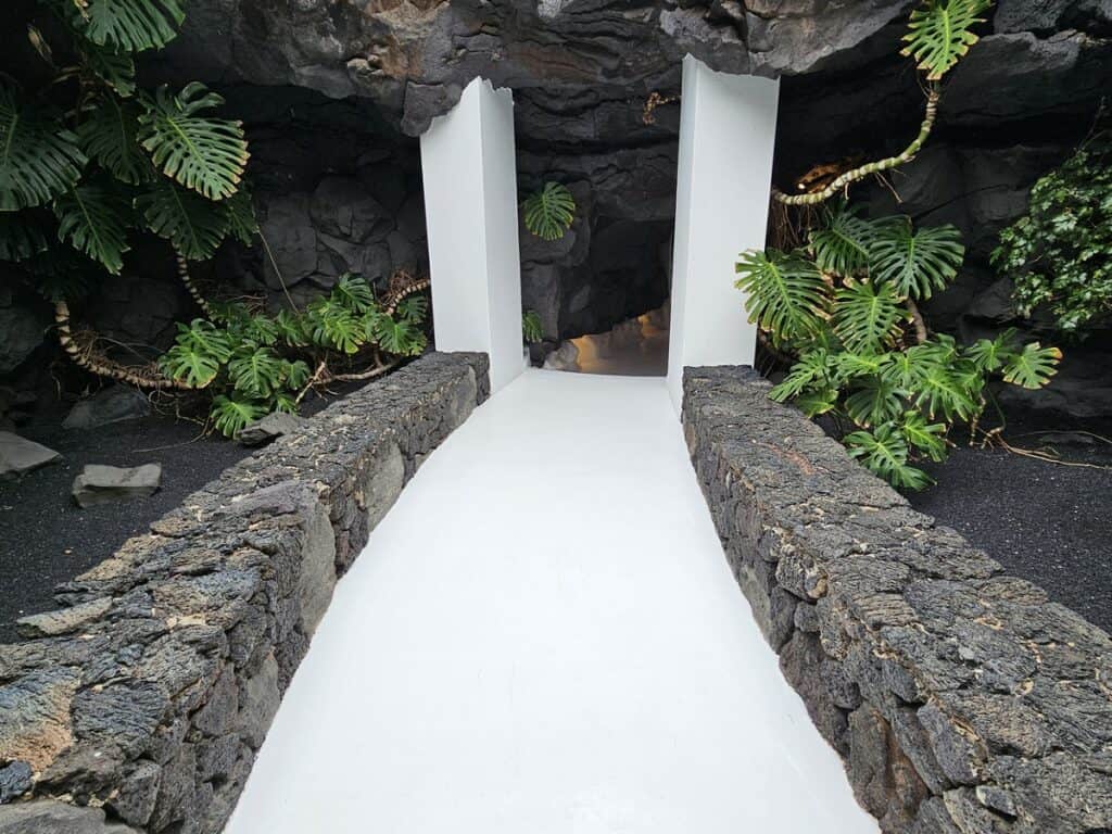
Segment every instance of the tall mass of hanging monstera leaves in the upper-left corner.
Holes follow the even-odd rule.
[[[228,236],[250,244],[257,225],[239,187],[247,142],[239,122],[211,115],[224,100],[199,83],[136,87],[136,53],[176,36],[182,1],[37,2],[58,16],[57,42],[30,24],[28,36],[57,77],[39,91],[0,81],[0,259],[24,262],[57,296],[71,281],[51,276],[51,264],[83,262],[83,284],[118,274],[137,229],[193,260]],[[44,258],[47,248],[81,257]]]

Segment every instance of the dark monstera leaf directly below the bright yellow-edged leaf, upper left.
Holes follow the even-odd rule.
[[[189,260],[211,258],[228,230],[224,207],[160,179],[136,200],[147,228]]]

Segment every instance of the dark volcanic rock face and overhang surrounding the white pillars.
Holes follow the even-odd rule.
[[[381,284],[399,269],[427,270],[416,137],[450,107],[474,63],[514,89],[522,193],[557,180],[578,206],[562,240],[522,229],[523,302],[545,335],[535,359],[667,298],[682,102],[645,112],[653,93],[678,95],[683,52],[719,69],[781,75],[774,179],[787,189],[813,166],[902,147],[921,118],[916,75],[897,54],[901,3],[871,12],[652,3],[638,7],[644,19],[584,3],[543,21],[542,7],[391,3],[374,9],[385,34],[367,31],[370,18],[345,3],[302,2],[266,19],[258,3],[234,6],[193,3],[182,34],[143,70],[152,83],[199,78],[218,89],[251,143],[265,245],[226,245],[197,278],[220,294],[281,305],[286,292],[304,301],[346,271]],[[401,11],[420,27],[406,29]],[[926,315],[935,329],[965,335],[1014,318],[989,254],[1024,210],[1032,182],[1090,129],[1112,63],[1106,3],[1003,0],[991,17],[992,33],[947,81],[926,148],[865,191],[877,214],[962,229],[966,267]],[[742,40],[747,51],[736,48]],[[437,62],[438,50],[453,57]],[[415,53],[427,59],[416,70],[391,63]],[[8,58],[30,60],[23,47]],[[165,247],[152,242],[139,255],[123,275],[106,277],[78,316],[119,349],[151,355],[197,310]],[[61,360],[49,307],[11,286],[0,284],[0,419],[18,425],[57,410],[59,393],[72,397],[97,383]],[[1037,319],[1023,326],[1040,329]],[[1099,358],[1105,344],[1096,334],[1069,350],[1037,405],[1080,417],[1112,413],[1112,380]]]

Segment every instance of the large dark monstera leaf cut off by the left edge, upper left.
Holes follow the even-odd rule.
[[[77,183],[85,163],[77,136],[0,83],[0,211],[50,202]]]

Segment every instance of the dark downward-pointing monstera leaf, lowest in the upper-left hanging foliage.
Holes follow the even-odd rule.
[[[128,202],[109,185],[91,181],[54,200],[58,239],[98,261],[112,275],[123,268],[128,247]]]

